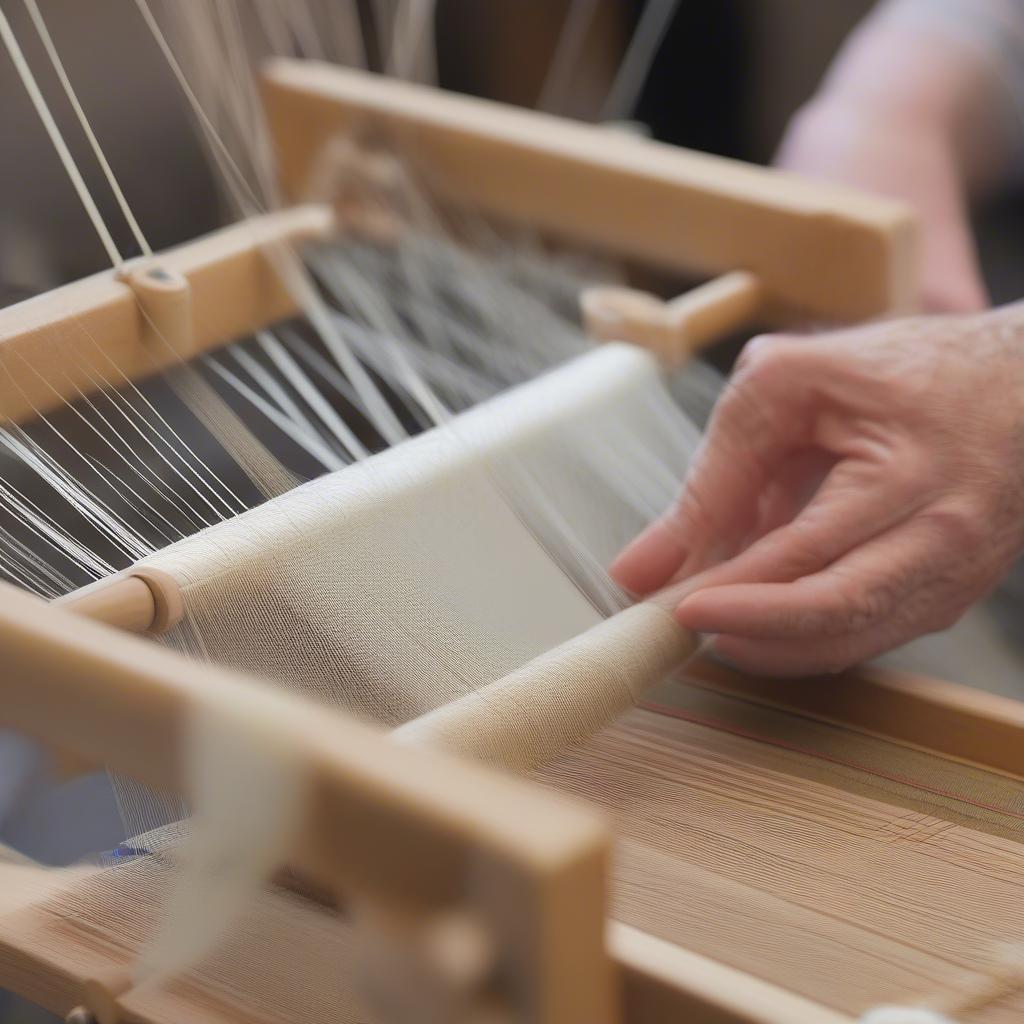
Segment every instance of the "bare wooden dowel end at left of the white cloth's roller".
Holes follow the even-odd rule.
[[[146,565],[100,580],[57,598],[54,603],[97,623],[151,636],[167,633],[184,614],[177,580],[163,569]]]

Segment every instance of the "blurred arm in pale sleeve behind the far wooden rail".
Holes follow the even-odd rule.
[[[925,306],[983,308],[967,209],[1024,168],[1024,0],[883,2],[776,159],[909,203],[925,226]]]

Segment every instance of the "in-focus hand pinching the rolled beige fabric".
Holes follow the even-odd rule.
[[[1024,549],[1024,305],[751,342],[678,504],[616,559],[767,674],[947,628]]]

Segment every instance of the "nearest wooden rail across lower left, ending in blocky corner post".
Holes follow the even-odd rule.
[[[400,910],[399,921],[467,910],[498,957],[487,985],[516,1019],[615,1018],[604,945],[608,837],[585,808],[402,749],[272,686],[6,585],[0,649],[0,725],[159,788],[185,791],[189,730],[211,694],[239,729],[254,710],[272,720],[274,736],[302,752],[306,775],[307,813],[289,854],[296,869],[361,907]],[[0,956],[0,965],[16,959]],[[67,989],[66,978],[57,981]],[[16,982],[0,978],[4,987]]]

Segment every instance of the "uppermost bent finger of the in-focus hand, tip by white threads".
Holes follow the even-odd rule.
[[[708,435],[694,460],[682,498],[620,554],[612,577],[644,595],[665,586],[681,569],[727,557],[751,535],[762,493],[786,457],[804,446],[809,429],[808,393],[796,367],[778,357],[784,341],[773,341],[773,357],[758,339],[719,400]]]

